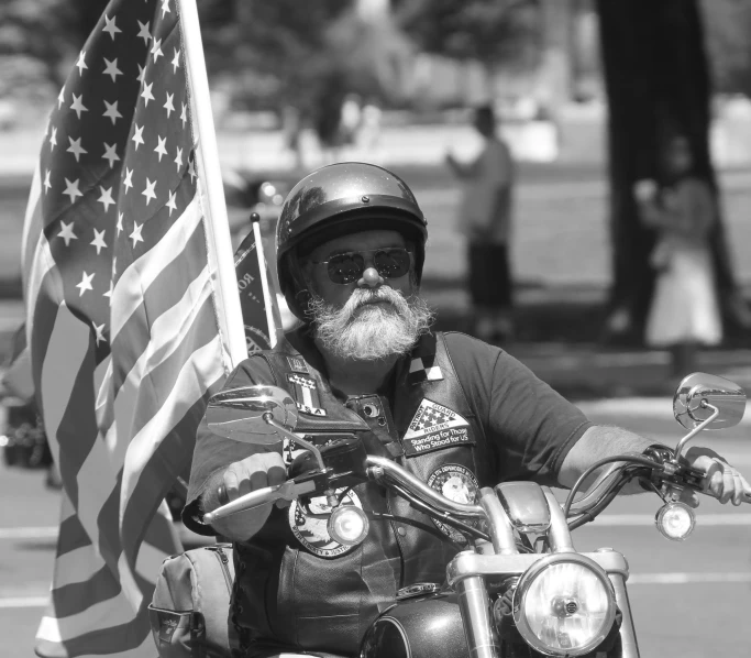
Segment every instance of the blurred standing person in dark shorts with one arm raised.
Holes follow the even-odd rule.
[[[446,154],[446,163],[464,184],[460,231],[467,239],[473,332],[485,341],[511,338],[512,277],[509,264],[515,166],[506,142],[498,136],[493,107],[474,112],[483,149],[471,163]]]

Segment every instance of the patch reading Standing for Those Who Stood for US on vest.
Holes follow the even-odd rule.
[[[470,424],[449,407],[423,398],[401,439],[407,457],[450,446],[474,445]]]

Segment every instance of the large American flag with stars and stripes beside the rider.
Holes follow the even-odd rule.
[[[180,550],[163,500],[206,401],[246,354],[229,229],[207,191],[216,145],[188,1],[109,3],[32,185],[26,327],[64,483],[40,656],[155,655],[145,608]]]

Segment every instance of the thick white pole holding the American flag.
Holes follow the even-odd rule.
[[[206,73],[203,44],[201,42],[198,9],[195,0],[179,0],[179,19],[183,30],[184,57],[190,89],[191,125],[196,157],[199,160],[199,186],[206,184],[202,196],[208,200],[208,217],[205,222],[208,241],[209,265],[217,273],[214,285],[216,308],[220,335],[227,337],[230,366],[247,358],[247,346],[243,333],[242,310],[234,271],[230,224],[227,218],[224,186],[222,183],[219,150],[211,113],[209,79]],[[200,189],[200,187],[199,187]]]

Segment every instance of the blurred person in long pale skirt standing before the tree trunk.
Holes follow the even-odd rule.
[[[647,344],[667,348],[672,374],[683,377],[696,370],[700,346],[722,340],[708,235],[715,223],[711,189],[695,172],[691,144],[675,136],[665,154],[665,185],[639,182],[637,201],[645,226],[658,231],[651,255],[656,271],[647,320]]]

